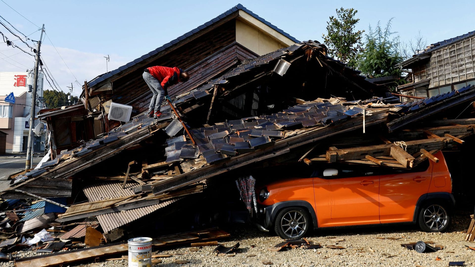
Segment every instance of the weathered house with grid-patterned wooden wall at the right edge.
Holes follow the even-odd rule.
[[[432,97],[475,85],[474,62],[475,31],[434,43],[399,64],[412,71],[410,83],[398,90],[402,95]],[[408,97],[402,100],[408,101]]]

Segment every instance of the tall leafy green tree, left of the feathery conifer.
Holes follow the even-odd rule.
[[[328,56],[336,57],[350,67],[356,67],[363,51],[361,38],[364,30],[355,31],[356,23],[360,20],[355,18],[357,12],[355,9],[337,9],[336,18],[332,16],[327,21],[327,35],[323,34]]]

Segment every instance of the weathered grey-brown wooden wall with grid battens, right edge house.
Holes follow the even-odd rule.
[[[474,78],[475,37],[432,52],[427,64],[416,66],[414,82],[431,78],[429,88]]]

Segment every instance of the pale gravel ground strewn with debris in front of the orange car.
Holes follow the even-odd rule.
[[[265,266],[263,262],[272,262],[270,266],[286,267],[347,267],[347,266],[448,266],[449,261],[465,261],[464,266],[475,266],[475,251],[467,249],[465,245],[475,247],[474,242],[465,241],[463,230],[468,227],[469,215],[459,213],[455,216],[452,226],[445,233],[426,233],[417,231],[417,226],[384,226],[374,228],[346,228],[346,229],[319,229],[308,237],[319,242],[323,248],[319,249],[287,249],[284,251],[270,251],[267,248],[282,242],[275,234],[259,232],[252,226],[241,226],[229,230],[231,238],[221,240],[230,247],[237,242],[240,247],[236,255],[229,257],[217,256],[213,252],[215,246],[198,247],[193,251],[189,245],[170,249],[154,250],[154,253],[171,254],[171,257],[160,258],[161,263],[156,267],[176,266]],[[385,238],[385,239],[382,239]],[[399,238],[397,240],[388,238]],[[338,241],[344,239],[344,241]],[[442,250],[432,253],[417,253],[401,247],[400,244],[423,241],[433,241],[444,246]],[[327,245],[338,245],[344,249],[326,248]],[[196,249],[195,249],[196,250]],[[29,257],[39,255],[32,251],[21,252],[15,257]],[[113,256],[113,257],[120,257]],[[437,260],[437,258],[440,258]],[[176,260],[186,260],[189,263],[176,264]],[[13,262],[1,266],[14,266]],[[71,264],[71,267],[127,267],[127,259],[102,261],[98,263]]]

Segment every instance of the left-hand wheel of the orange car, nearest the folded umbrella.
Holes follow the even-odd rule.
[[[274,224],[276,234],[284,239],[303,238],[312,225],[312,217],[307,210],[289,207],[279,211]]]

